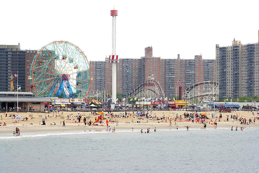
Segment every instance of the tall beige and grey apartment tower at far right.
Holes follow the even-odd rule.
[[[216,44],[219,98],[259,95],[258,42],[241,44],[234,38],[232,46]]]

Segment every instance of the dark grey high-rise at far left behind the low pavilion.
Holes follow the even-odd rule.
[[[20,45],[0,45],[0,91],[11,91],[10,76],[17,72],[18,85],[25,91],[25,51],[20,50]],[[14,77],[14,86],[16,79]]]

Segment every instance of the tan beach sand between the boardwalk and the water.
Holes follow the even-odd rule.
[[[132,114],[133,111],[127,111],[127,113],[131,113]],[[146,112],[146,111],[145,111]],[[148,111],[150,113],[150,111]],[[165,115],[165,117],[169,117],[169,118],[175,118],[176,115],[182,115],[182,118],[184,118],[183,114],[184,112],[188,112],[188,113],[192,113],[191,111],[152,111],[152,116],[154,116],[156,114],[157,117],[162,117],[163,115]],[[61,119],[60,117],[47,117],[46,120],[46,125],[39,125],[39,122],[42,121],[42,119],[45,119],[45,116],[53,116],[52,114],[48,114],[48,113],[37,113],[37,112],[8,112],[7,117],[5,117],[5,113],[0,113],[0,115],[2,115],[3,117],[3,121],[0,122],[5,122],[7,124],[7,126],[0,126],[0,133],[13,133],[13,131],[15,130],[16,127],[18,127],[20,129],[20,133],[22,135],[23,132],[44,132],[44,131],[81,131],[81,130],[105,130],[107,128],[106,123],[104,122],[104,126],[88,126],[84,125],[83,123],[83,118],[85,116],[82,116],[81,119],[81,123],[72,123],[75,122],[77,120],[76,115],[80,113],[80,114],[85,114],[85,116],[90,116],[89,119],[86,119],[86,121],[91,120],[92,122],[94,122],[95,117],[96,116],[91,116],[91,112],[63,112],[63,116],[64,119]],[[122,112],[114,112],[114,114],[120,114],[120,113],[124,113],[125,111]],[[136,111],[134,111],[134,113],[136,114]],[[179,114],[177,114],[179,113]],[[215,113],[215,111],[207,111],[207,112],[198,112],[198,113],[206,113],[208,118],[212,118],[212,113]],[[220,113],[216,112],[216,116],[219,117]],[[17,119],[12,119],[11,117],[9,117],[9,114],[15,114],[15,115],[21,115],[22,118],[19,119],[19,121]],[[29,114],[33,114],[33,119],[31,119],[31,117],[29,117]],[[60,114],[62,114],[62,112],[60,112]],[[71,117],[71,114],[73,114],[73,116]],[[104,112],[104,115],[107,114],[107,112]],[[254,119],[252,119],[253,115],[252,112],[248,112],[248,111],[234,111],[231,113],[221,113],[222,114],[222,119],[220,122],[218,122],[217,119],[217,127],[229,127],[231,128],[233,126],[233,129],[235,129],[236,126],[238,127],[259,127],[259,121],[256,119],[255,125],[254,125]],[[241,125],[239,120],[237,121],[230,121],[231,115],[238,115],[238,119],[239,117],[245,118],[247,119],[247,121],[251,118],[252,119],[252,123],[250,123],[250,125]],[[39,115],[42,115],[42,118],[39,117]],[[54,113],[54,115],[56,115],[56,113]],[[69,119],[74,119],[74,120],[67,120],[67,116],[70,116]],[[226,121],[226,115],[228,115],[229,120],[228,122]],[[254,112],[254,116],[257,117],[256,111]],[[24,117],[28,118],[28,121],[21,121]],[[107,118],[107,116],[104,116],[105,118]],[[98,118],[98,117],[97,117]],[[18,121],[19,123],[12,123],[14,121]],[[63,120],[65,120],[65,125],[66,127],[62,127],[63,125]],[[108,125],[111,126],[111,128],[113,129],[115,127],[115,129],[143,129],[146,130],[148,128],[150,128],[152,131],[153,129],[156,127],[156,129],[176,129],[176,126],[178,125],[178,128],[186,128],[186,126],[188,125],[191,128],[203,128],[203,124],[202,123],[192,123],[191,121],[186,122],[186,121],[182,121],[180,122],[180,120],[176,121],[176,125],[174,120],[172,120],[172,127],[169,127],[170,125],[170,121],[168,121],[167,123],[162,122],[162,123],[157,123],[158,121],[155,120],[153,122],[152,119],[148,120],[147,123],[147,119],[144,120],[140,120],[143,123],[136,123],[137,121],[139,121],[138,118],[113,118],[113,120],[117,120],[119,121],[118,126],[116,125],[116,123],[111,123],[109,122]],[[186,120],[186,119],[184,119]],[[225,121],[224,121],[225,120]],[[132,123],[133,121],[133,123]],[[161,120],[159,120],[160,122]],[[214,128],[214,125],[209,124],[209,121],[214,122],[215,119],[208,119],[207,120],[207,128]],[[56,125],[50,125],[50,123],[55,122]],[[125,123],[125,122],[130,122],[130,123]],[[32,124],[30,124],[32,123]]]

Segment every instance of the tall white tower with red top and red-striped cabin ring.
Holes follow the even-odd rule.
[[[112,55],[110,55],[109,60],[112,63],[112,102],[116,103],[116,91],[117,91],[117,69],[116,63],[119,62],[118,55],[116,55],[116,16],[118,16],[118,10],[111,10],[111,16],[113,17],[113,27],[112,27],[112,42],[113,42],[113,50]]]

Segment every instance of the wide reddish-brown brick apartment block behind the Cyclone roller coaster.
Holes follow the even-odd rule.
[[[120,58],[117,63],[117,92],[128,94],[150,78],[159,82],[166,96],[176,96],[179,95],[179,86],[184,91],[191,84],[216,80],[215,59],[202,59],[201,55],[196,55],[197,59],[180,59],[179,54],[177,59],[162,59],[153,57],[152,52],[153,48],[147,47],[145,57]],[[105,61],[90,61],[90,67],[90,90],[112,90],[109,58],[106,57]]]

